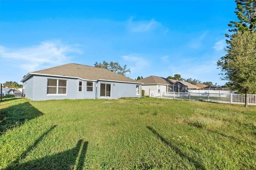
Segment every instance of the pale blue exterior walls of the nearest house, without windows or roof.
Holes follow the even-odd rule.
[[[47,79],[67,80],[67,94],[49,95],[47,94]],[[100,97],[100,83],[111,84],[111,97],[108,99],[117,99],[121,97],[141,97],[141,84],[126,82],[93,82],[93,91],[86,91],[86,81],[82,81],[82,91],[78,91],[80,79],[58,78],[33,75],[27,79],[24,84],[26,97],[31,100],[52,100],[52,99],[95,99]],[[136,94],[136,86],[139,86],[139,94]]]

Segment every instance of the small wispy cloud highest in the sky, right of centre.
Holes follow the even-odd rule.
[[[163,27],[163,25],[154,19],[149,21],[134,21],[133,17],[131,17],[128,20],[128,29],[131,32],[148,32],[154,30],[157,27]],[[165,28],[164,31],[166,33],[166,31],[169,31],[169,29]]]

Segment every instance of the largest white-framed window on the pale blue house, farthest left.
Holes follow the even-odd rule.
[[[47,95],[66,95],[67,80],[47,79]]]

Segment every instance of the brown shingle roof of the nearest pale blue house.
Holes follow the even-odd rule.
[[[30,72],[30,74],[33,73],[60,75],[63,77],[75,77],[85,80],[111,80],[138,83],[133,79],[127,78],[121,74],[111,72],[107,69],[101,69],[98,67],[74,63],[51,67],[49,69],[39,70],[35,72]]]

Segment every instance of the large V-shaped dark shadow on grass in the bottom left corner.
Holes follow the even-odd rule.
[[[15,160],[15,162],[13,162],[5,169],[74,169],[75,165],[77,165],[76,169],[83,169],[88,142],[83,142],[82,139],[79,140],[76,144],[76,147],[72,149],[59,152],[50,156],[45,156],[39,159],[30,160],[25,163],[19,163],[20,160],[26,158],[28,153],[35,149],[38,143],[42,141],[43,138],[45,138],[56,126],[57,125],[54,125],[49,130],[44,132],[41,137],[39,137],[34,142],[33,145],[28,147],[28,149],[23,152],[21,156],[17,160]],[[81,150],[80,155],[79,150]],[[76,164],[77,159],[78,162]]]

